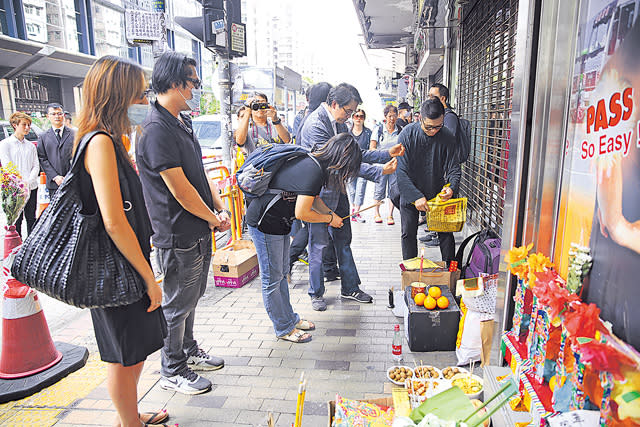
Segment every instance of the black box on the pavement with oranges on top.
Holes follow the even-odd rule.
[[[446,309],[427,310],[411,298],[411,289],[405,289],[407,310],[404,328],[411,351],[454,351],[460,324],[460,308],[447,285],[439,285],[442,296],[449,300]]]

